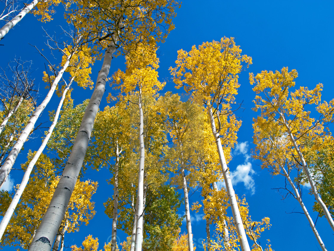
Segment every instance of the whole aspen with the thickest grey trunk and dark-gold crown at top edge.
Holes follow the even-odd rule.
[[[82,4],[85,4],[87,1],[82,1]],[[107,1],[108,2],[108,1]],[[80,2],[81,3],[81,2]],[[155,38],[156,41],[161,41],[164,37],[167,36],[168,32],[173,28],[173,24],[171,23],[171,18],[175,15],[174,13],[174,5],[175,2],[170,1],[158,1],[152,3],[151,1],[134,1],[133,8],[132,5],[122,6],[117,5],[117,3],[113,2],[110,4],[108,2],[106,4],[107,9],[98,9],[98,11],[94,12],[97,19],[95,21],[104,20],[104,18],[99,19],[99,15],[103,14],[104,11],[109,13],[109,17],[113,16],[114,19],[112,26],[114,33],[106,33],[104,38],[109,39],[109,45],[106,50],[106,54],[104,56],[102,69],[98,74],[98,80],[96,83],[96,87],[92,94],[92,98],[90,103],[86,109],[85,115],[83,116],[82,123],[77,134],[76,140],[73,144],[73,148],[71,154],[68,158],[68,162],[64,167],[63,174],[60,178],[59,184],[55,190],[53,199],[50,202],[50,206],[48,207],[48,211],[46,212],[39,229],[36,231],[36,235],[29,247],[29,250],[50,250],[51,244],[50,240],[53,240],[57,234],[58,228],[61,224],[61,220],[65,214],[64,209],[69,202],[71,193],[74,189],[74,184],[79,175],[81,165],[86,155],[89,139],[91,137],[91,133],[93,130],[94,120],[103,96],[105,92],[105,84],[106,79],[109,74],[112,55],[119,47],[117,42],[124,40],[123,33],[121,30],[125,30],[124,37],[127,37],[129,43],[128,48],[134,48],[135,44],[138,44],[140,41],[147,41],[151,38]],[[94,4],[92,4],[94,6]],[[97,8],[99,6],[104,6],[103,1],[99,2],[96,5]],[[115,6],[115,8],[113,8]],[[117,7],[117,8],[116,8]],[[138,8],[142,7],[142,8]],[[145,11],[145,13],[141,13],[141,15],[137,15],[136,12],[141,11],[143,9],[149,10]],[[88,11],[89,9],[82,8],[82,11]],[[79,13],[80,14],[80,13]],[[95,26],[95,22],[91,19],[86,18],[82,15],[73,16],[75,20],[75,25],[86,26],[88,22]],[[136,15],[135,15],[136,14]],[[127,17],[124,19],[124,16]],[[126,21],[126,22],[125,22]],[[165,25],[166,28],[163,32],[159,30],[159,28],[154,28],[160,25],[156,25],[158,22],[161,25]],[[151,28],[148,28],[148,25],[151,25]],[[90,27],[91,25],[87,25]],[[95,26],[98,27],[98,26]],[[93,32],[94,33],[94,32]],[[95,36],[96,37],[96,36]],[[110,40],[111,39],[111,40]],[[108,40],[106,40],[108,41]],[[130,43],[131,42],[131,43]],[[133,43],[133,44],[132,44]],[[120,44],[121,48],[123,44]]]

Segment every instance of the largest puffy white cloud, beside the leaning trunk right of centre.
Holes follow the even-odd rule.
[[[238,165],[236,170],[230,173],[232,184],[234,185],[242,182],[253,195],[255,193],[255,182],[252,177],[253,174],[255,174],[255,171],[252,168],[252,163],[247,162],[245,164]]]

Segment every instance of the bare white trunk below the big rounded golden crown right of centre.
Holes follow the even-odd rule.
[[[212,134],[213,134],[213,136],[216,140],[216,146],[217,146],[217,151],[218,151],[218,155],[219,155],[219,161],[220,161],[222,173],[223,173],[224,180],[225,180],[226,191],[227,191],[229,203],[231,205],[231,210],[232,210],[232,215],[233,215],[233,219],[234,219],[234,222],[235,222],[236,232],[239,236],[239,242],[240,242],[241,250],[242,251],[250,251],[251,249],[249,248],[249,244],[248,244],[247,236],[246,236],[246,233],[245,233],[245,229],[243,228],[243,225],[242,225],[242,220],[241,220],[241,216],[240,216],[240,212],[239,212],[239,208],[238,208],[238,203],[236,202],[235,193],[234,193],[234,190],[233,190],[231,178],[230,178],[229,171],[228,171],[228,168],[227,168],[227,164],[226,164],[226,161],[225,161],[223,148],[221,146],[220,135],[216,131],[216,125],[215,125],[215,122],[214,122],[214,116],[213,116],[211,106],[210,106],[210,108],[208,108],[208,113],[209,113],[209,117],[210,117]]]

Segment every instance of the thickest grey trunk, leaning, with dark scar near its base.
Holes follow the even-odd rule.
[[[50,240],[55,238],[61,221],[64,218],[75,182],[86,155],[88,142],[93,130],[94,120],[98,112],[103,93],[106,90],[106,79],[109,74],[112,55],[117,49],[116,44],[113,42],[115,40],[116,38],[110,42],[106,50],[102,69],[99,71],[94,92],[86,108],[85,114],[83,115],[71,154],[54,191],[50,205],[47,208],[41,224],[39,225],[35,238],[30,244],[29,251],[49,251],[51,249]]]

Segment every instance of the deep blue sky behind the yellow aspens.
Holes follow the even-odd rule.
[[[310,89],[316,84],[323,83],[322,100],[333,98],[333,75],[332,58],[334,38],[334,4],[331,1],[183,1],[177,10],[174,19],[175,29],[169,34],[166,42],[160,46],[159,77],[166,81],[167,85],[161,92],[176,90],[170,80],[168,68],[174,66],[177,50],[189,51],[191,46],[202,44],[205,41],[220,40],[223,36],[233,36],[236,45],[239,45],[244,54],[253,58],[253,65],[239,75],[239,94],[236,100],[243,101],[244,110],[237,111],[237,116],[242,120],[242,126],[238,132],[238,145],[233,151],[233,159],[229,168],[233,176],[235,192],[245,194],[249,203],[249,211],[252,219],[261,220],[268,216],[272,227],[262,234],[260,242],[265,246],[266,240],[270,239],[274,250],[318,250],[317,241],[304,215],[291,212],[301,212],[298,202],[289,197],[281,200],[281,195],[273,189],[282,186],[282,177],[271,177],[268,171],[261,170],[260,163],[251,158],[253,129],[252,119],[257,116],[251,108],[254,106],[254,92],[249,85],[248,73],[255,74],[262,70],[280,70],[282,67],[296,69],[299,77],[296,86],[307,86]],[[42,24],[48,32],[59,30],[56,25],[63,22],[61,11],[50,23]],[[36,69],[36,83],[40,83],[41,97],[45,93],[41,81],[41,72],[44,69],[44,60],[38,55],[30,44],[46,50],[43,45],[46,39],[41,29],[41,23],[31,14],[27,15],[20,25],[11,30],[1,41],[0,66],[5,67],[7,62],[14,57],[22,60],[32,60]],[[57,64],[57,60],[51,59]],[[111,74],[118,68],[124,69],[124,59],[113,60]],[[101,68],[101,62],[96,62],[92,71],[92,80],[95,81]],[[111,75],[110,75],[111,76]],[[108,90],[107,92],[111,91]],[[110,89],[110,88],[109,88]],[[75,87],[73,91],[75,103],[90,98],[92,91]],[[107,95],[105,95],[107,97]],[[42,98],[40,98],[41,100]],[[58,98],[52,98],[47,110],[55,109]],[[104,99],[101,109],[106,105]],[[45,121],[48,113],[43,112],[41,121]],[[28,142],[25,150],[20,154],[18,161],[26,161],[26,153],[29,148],[36,149],[39,137]],[[17,163],[18,164],[18,163]],[[248,176],[246,175],[248,171]],[[234,175],[233,175],[234,174]],[[240,176],[241,174],[241,176]],[[13,173],[14,184],[20,182],[18,171]],[[66,234],[65,245],[80,245],[85,237],[92,234],[100,240],[100,248],[107,242],[111,233],[111,219],[104,214],[103,202],[112,194],[112,186],[107,185],[105,177],[109,177],[108,170],[87,171],[87,177],[99,181],[96,201],[97,214],[87,227],[81,227],[80,232]],[[243,175],[243,176],[242,176]],[[247,182],[243,182],[246,180]],[[108,193],[104,193],[108,191]],[[191,201],[200,200],[199,194],[190,197]],[[304,189],[303,199],[312,211],[314,198]],[[180,208],[179,213],[183,214]],[[193,234],[196,243],[200,238],[205,239],[205,222],[191,212],[193,216]],[[313,220],[317,213],[311,213]],[[334,250],[334,237],[331,228],[325,218],[319,218],[316,224],[317,230],[328,250]],[[185,224],[181,232],[185,232]],[[213,228],[211,229],[213,231]],[[121,241],[125,235],[119,232]],[[201,250],[200,246],[197,247]],[[5,250],[13,250],[5,248]]]

